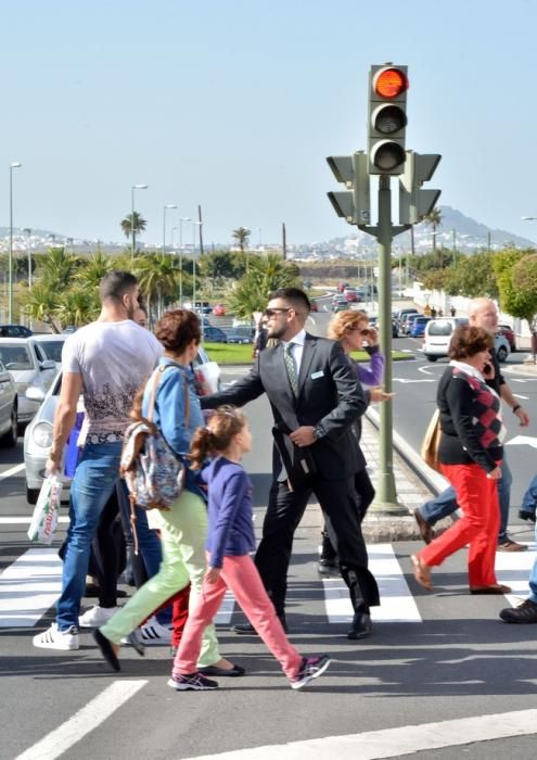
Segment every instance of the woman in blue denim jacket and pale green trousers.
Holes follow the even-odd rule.
[[[204,425],[190,368],[201,339],[195,314],[186,309],[166,312],[156,325],[155,335],[164,345],[159,359],[159,378],[154,394],[152,421],[174,454],[187,466],[194,431]],[[146,418],[155,378],[152,377],[135,400],[131,417]],[[118,651],[127,637],[142,655],[135,630],[157,607],[191,583],[190,609],[196,604],[205,574],[205,537],[207,509],[205,492],[197,484],[196,473],[187,467],[182,493],[169,509],[158,512],[163,561],[151,578],[129,601],[104,625],[93,632],[99,648],[108,664],[119,671]],[[222,659],[214,625],[207,625],[199,659],[200,671],[209,675],[242,675],[244,669]]]

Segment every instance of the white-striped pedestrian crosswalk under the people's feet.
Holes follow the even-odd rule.
[[[396,549],[392,544],[373,544],[369,547],[370,568],[379,583],[382,604],[372,610],[379,623],[422,623],[419,597],[414,597]],[[497,574],[501,583],[513,590],[507,595],[512,606],[527,596],[527,580],[535,559],[535,545],[528,552],[497,555]],[[57,550],[33,547],[22,554],[0,575],[0,629],[34,628],[54,605],[61,592],[62,561]],[[292,584],[291,584],[292,587]],[[340,578],[319,579],[316,593],[322,598],[329,623],[347,623],[353,609],[348,592]],[[216,623],[229,625],[236,605],[228,592]]]

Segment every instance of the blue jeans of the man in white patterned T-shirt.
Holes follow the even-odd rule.
[[[120,454],[120,443],[88,444],[84,447],[76,469],[71,485],[71,524],[64,556],[62,594],[56,605],[60,631],[78,625],[91,541],[117,481]]]

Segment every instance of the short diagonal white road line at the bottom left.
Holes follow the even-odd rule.
[[[18,755],[15,760],[54,760],[59,758],[101,725],[146,683],[148,681],[115,681],[78,712],[75,712],[73,718]]]

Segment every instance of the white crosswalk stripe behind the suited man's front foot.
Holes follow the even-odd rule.
[[[369,568],[379,583],[381,606],[371,608],[375,622],[421,623],[422,619],[391,544],[368,546]],[[341,579],[323,579],[324,606],[331,623],[348,623],[353,606]]]

